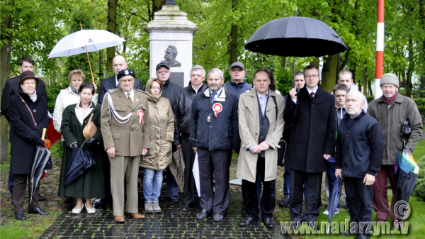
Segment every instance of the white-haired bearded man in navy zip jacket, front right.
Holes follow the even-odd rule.
[[[336,137],[335,176],[344,176],[346,202],[351,223],[358,228],[345,234],[357,239],[370,238],[364,222],[372,221],[373,187],[384,152],[384,136],[378,121],[362,107],[365,96],[351,91],[346,96],[346,116],[341,120]]]

